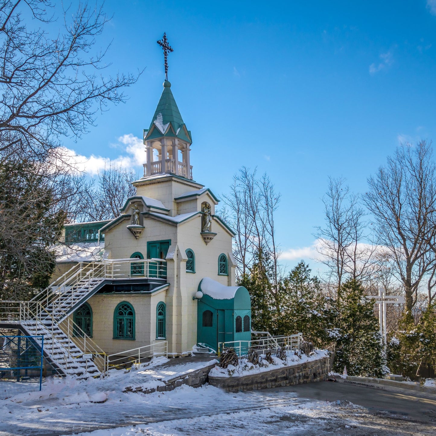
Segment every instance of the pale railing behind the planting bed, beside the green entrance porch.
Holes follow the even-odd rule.
[[[252,339],[250,341],[228,341],[218,342],[218,352],[222,353],[226,348],[233,348],[238,356],[244,356],[250,348],[258,351],[276,350],[278,347],[286,350],[297,350],[303,342],[303,334],[291,334],[290,336],[271,336],[268,332],[253,332],[267,334],[265,337]]]

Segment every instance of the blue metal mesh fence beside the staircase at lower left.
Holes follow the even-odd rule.
[[[40,391],[43,336],[0,336],[0,399]]]

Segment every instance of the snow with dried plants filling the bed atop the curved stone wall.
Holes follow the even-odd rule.
[[[272,363],[270,364],[265,360],[265,355],[261,354],[259,357],[259,364],[254,365],[246,359],[240,359],[238,366],[228,365],[227,368],[220,368],[215,366],[209,372],[212,377],[242,377],[244,375],[259,374],[260,372],[272,371],[277,368],[284,368],[286,366],[296,366],[302,363],[311,362],[324,357],[328,357],[328,352],[325,350],[316,350],[310,356],[306,354],[296,355],[294,351],[286,352],[287,361],[283,361],[275,356],[272,356]]]

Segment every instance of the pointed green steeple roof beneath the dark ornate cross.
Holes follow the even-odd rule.
[[[171,92],[171,83],[165,80],[164,91],[160,96],[156,111],[148,130],[144,130],[144,139],[160,138],[162,136],[172,136],[192,143],[191,132],[186,129],[180,115],[177,103]]]

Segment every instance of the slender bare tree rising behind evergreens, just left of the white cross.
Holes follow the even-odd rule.
[[[358,195],[352,194],[345,179],[329,177],[323,198],[325,225],[317,227],[320,262],[327,266],[327,282],[340,298],[345,277],[365,280],[371,274],[375,245],[368,239],[364,210]],[[367,242],[367,243],[365,243]]]

